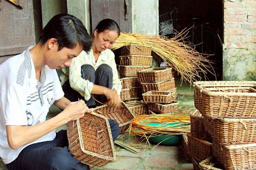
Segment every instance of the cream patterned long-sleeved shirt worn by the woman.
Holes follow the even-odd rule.
[[[61,85],[69,78],[70,87],[76,90],[84,99],[88,101],[90,99],[90,93],[93,87],[93,83],[89,80],[84,80],[81,77],[81,66],[84,64],[89,64],[93,66],[96,70],[99,65],[107,64],[112,68],[113,71],[113,87],[117,94],[120,95],[121,92],[121,81],[118,78],[118,73],[116,69],[116,64],[114,61],[114,53],[110,49],[101,51],[97,62],[95,61],[92,48],[88,53],[82,51],[77,57],[71,60],[69,67],[62,68],[62,74],[60,75]]]

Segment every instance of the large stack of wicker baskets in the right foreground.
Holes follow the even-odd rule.
[[[256,81],[194,82],[194,105],[202,114],[212,137],[213,156],[222,169],[255,168]],[[206,170],[204,163],[210,160],[199,167]]]

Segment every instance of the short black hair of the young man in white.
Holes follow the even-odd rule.
[[[50,38],[56,38],[58,51],[63,47],[74,48],[78,43],[84,51],[89,51],[92,40],[82,22],[70,14],[53,16],[39,36],[41,46]]]

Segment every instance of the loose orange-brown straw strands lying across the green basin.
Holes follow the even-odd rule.
[[[187,132],[190,132],[190,117],[177,114],[140,115],[129,126],[129,134],[138,136],[171,136]]]

